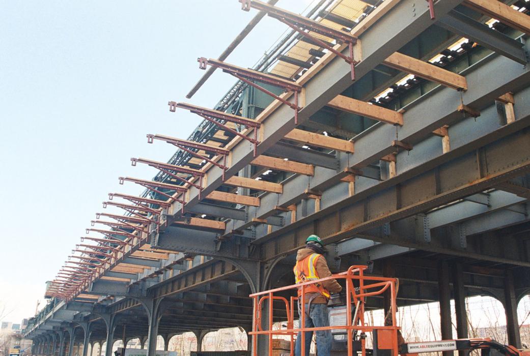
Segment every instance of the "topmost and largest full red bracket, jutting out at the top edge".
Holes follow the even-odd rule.
[[[306,38],[311,39],[312,41],[319,44],[319,46],[321,46],[322,48],[329,50],[336,56],[345,60],[346,63],[350,64],[351,66],[351,80],[355,81],[355,65],[358,63],[358,61],[354,59],[354,44],[357,42],[356,37],[352,36],[351,34],[347,32],[339,31],[330,26],[326,26],[323,23],[308,19],[305,16],[297,15],[295,13],[283,10],[279,7],[272,6],[267,3],[263,3],[261,1],[257,1],[257,0],[239,0],[239,1],[242,4],[241,5],[242,10],[250,11],[250,8],[253,7],[259,11],[266,12],[270,17],[273,17],[285,23],[291,29],[295,30],[299,34],[303,35]],[[349,56],[343,55],[340,51],[334,49],[328,43],[325,43],[324,41],[312,36],[311,32],[306,32],[306,30],[324,35],[326,37],[334,38],[335,40],[341,41],[343,43],[347,43],[348,48],[349,48]]]

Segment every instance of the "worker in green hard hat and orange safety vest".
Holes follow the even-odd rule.
[[[324,257],[322,239],[317,235],[310,235],[305,241],[304,248],[298,250],[296,265],[293,269],[296,283],[303,283],[330,277],[331,272]],[[340,284],[334,280],[305,286],[305,327],[329,326],[328,300],[330,293],[342,290]],[[298,314],[301,314],[302,288],[298,288]],[[302,317],[302,315],[301,315]],[[302,321],[299,321],[302,326]],[[305,356],[309,355],[313,332],[305,333]],[[331,352],[332,336],[330,330],[316,332],[316,350],[319,356],[329,356]],[[296,339],[295,356],[302,356],[302,333]]]

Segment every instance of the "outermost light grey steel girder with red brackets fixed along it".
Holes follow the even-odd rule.
[[[461,3],[462,0],[439,0],[435,4],[437,16],[447,14]],[[362,59],[355,67],[358,78],[366,75],[376,65],[382,63],[384,59],[432,24],[428,9],[418,10],[423,8],[417,6],[417,0],[396,2],[391,11],[360,35]],[[351,68],[349,64],[340,58],[334,58],[304,84],[304,108],[298,113],[298,122],[306,121],[350,85]],[[287,105],[279,106],[264,121],[263,128],[260,129],[262,138],[260,138],[261,143],[258,145],[257,154],[263,154],[294,128],[293,111]],[[202,194],[209,194],[222,185],[223,176],[230,177],[250,164],[253,159],[253,147],[240,141],[231,149],[230,155],[231,167],[228,170],[223,171],[215,166],[208,170],[208,185],[202,190]],[[198,195],[197,189],[190,188],[186,206],[191,208],[197,204],[199,202]],[[180,209],[180,203],[173,203],[171,211],[175,215],[179,214]]]

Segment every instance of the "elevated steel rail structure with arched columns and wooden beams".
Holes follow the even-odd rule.
[[[109,194],[104,207],[126,214],[98,213],[49,283],[50,304],[24,331],[34,354],[71,356],[83,344],[85,356],[107,342],[110,355],[114,341],[138,337],[151,356],[158,335],[167,347],[191,331],[200,347],[209,331],[249,331],[249,294],[292,284],[310,234],[333,271],[374,261],[374,274],[399,278],[399,306],[438,301],[444,339],[451,299],[454,336],[466,337],[465,298],[497,298],[520,346],[528,2],[329,0],[304,16],[275,3],[242,1],[254,19],[219,59],[199,58],[207,72],[190,97],[216,68],[236,84],[213,109],[169,103],[204,122],[188,140],[147,135],[178,151],[167,163],[131,158],[158,174],[120,177],[146,191]],[[228,64],[264,15],[291,33],[254,69]]]

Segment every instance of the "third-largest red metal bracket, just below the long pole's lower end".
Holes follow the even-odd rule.
[[[261,123],[255,121],[255,120],[243,118],[241,116],[228,114],[228,113],[223,112],[223,111],[206,109],[206,108],[202,108],[201,106],[187,104],[187,103],[177,103],[177,102],[174,102],[174,101],[170,101],[169,103],[167,103],[167,105],[169,105],[169,111],[171,111],[171,112],[175,112],[176,108],[189,110],[190,112],[195,113],[195,114],[201,116],[202,118],[204,118],[204,119],[216,124],[218,127],[222,128],[223,130],[231,132],[231,133],[233,133],[233,135],[237,135],[239,137],[244,138],[245,140],[250,141],[252,144],[254,144],[254,157],[256,156],[256,149],[257,149],[257,146],[259,144],[259,141],[258,141],[258,128],[261,126]],[[217,121],[215,119],[223,120],[223,121],[229,121],[229,122],[234,122],[234,123],[237,123],[237,124],[242,124],[242,125],[244,125],[246,127],[252,127],[254,129],[253,130],[254,131],[254,138],[250,138],[248,136],[245,136],[241,132],[237,132],[236,130],[234,130],[232,128],[229,128],[224,123],[222,123],[220,121]]]

